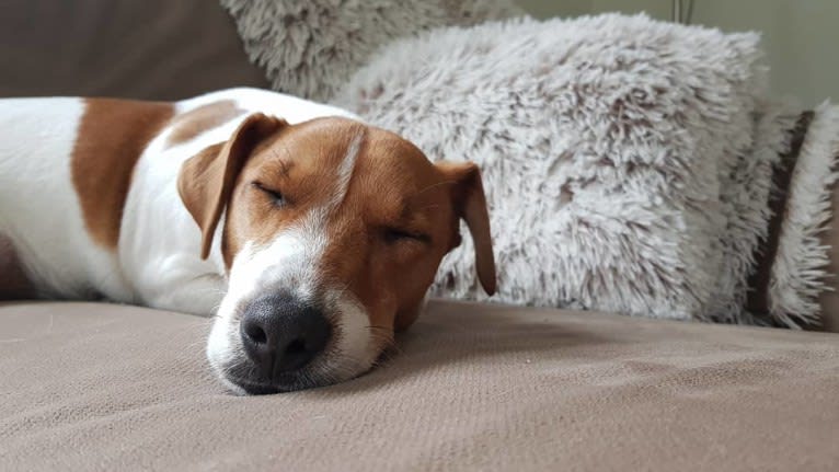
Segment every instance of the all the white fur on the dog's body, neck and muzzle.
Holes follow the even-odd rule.
[[[149,142],[134,169],[116,252],[97,246],[88,233],[70,175],[83,101],[0,101],[0,234],[12,240],[27,275],[45,296],[84,299],[101,292],[116,301],[202,315],[218,309],[207,346],[218,370],[242,355],[237,313],[255,293],[294,288],[296,296],[308,300],[325,290],[341,316],[335,322],[342,335],[332,352],[347,358],[324,359],[320,373],[335,379],[359,373],[370,367],[375,355],[367,314],[343,288],[319,286],[317,264],[327,243],[326,210],[313,211],[303,225],[278,234],[266,246],[245,244],[228,277],[218,233],[209,257],[200,258],[202,235],[176,186],[183,162],[227,140],[250,113],[274,115],[290,124],[322,116],[358,118],[340,108],[255,89],[185,100],[175,104],[175,113],[226,100],[248,113],[174,147],[166,143],[170,128]],[[338,202],[360,139],[359,135],[353,140],[335,176]],[[219,233],[222,227],[223,222]]]

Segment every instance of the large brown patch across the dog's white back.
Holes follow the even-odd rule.
[[[134,166],[169,122],[172,104],[85,100],[72,153],[72,182],[93,241],[114,249]]]

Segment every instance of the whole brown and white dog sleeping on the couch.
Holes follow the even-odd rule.
[[[231,387],[344,380],[387,344],[373,329],[392,334],[413,321],[417,293],[457,244],[459,216],[481,234],[479,272],[493,290],[475,175],[432,165],[342,110],[254,89],[176,103],[3,100],[0,299],[218,310],[208,355]],[[461,183],[462,192],[436,188]],[[451,208],[416,209],[414,197]],[[387,273],[406,267],[416,275]],[[276,327],[276,319],[294,325]],[[303,334],[287,343],[289,330]],[[311,331],[322,334],[317,343]],[[309,344],[318,348],[304,361],[280,359]]]

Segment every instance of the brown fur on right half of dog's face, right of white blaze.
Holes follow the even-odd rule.
[[[383,344],[410,325],[443,256],[455,245],[457,219],[448,176],[407,141],[373,129],[356,162],[342,208],[329,221],[321,268],[346,284],[367,308],[370,330]],[[423,240],[388,241],[390,229]]]

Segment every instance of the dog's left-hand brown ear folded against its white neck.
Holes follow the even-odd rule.
[[[230,139],[184,161],[177,192],[202,230],[202,258],[209,256],[216,227],[251,151],[286,125],[283,119],[255,113],[239,125]]]

